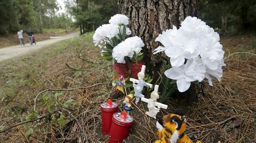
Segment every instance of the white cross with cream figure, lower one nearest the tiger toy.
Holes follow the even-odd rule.
[[[167,109],[168,107],[165,104],[157,102],[157,99],[159,98],[159,95],[157,94],[158,87],[158,85],[155,85],[154,91],[151,93],[149,99],[144,97],[142,98],[143,102],[147,102],[148,111],[146,112],[146,114],[154,119],[156,119],[156,115],[160,111],[160,108]],[[155,106],[157,106],[157,108]]]

